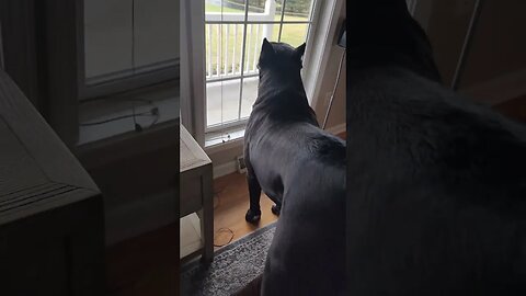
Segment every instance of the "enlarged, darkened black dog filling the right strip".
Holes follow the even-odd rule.
[[[404,0],[351,1],[350,295],[526,295],[526,128],[442,86]]]

